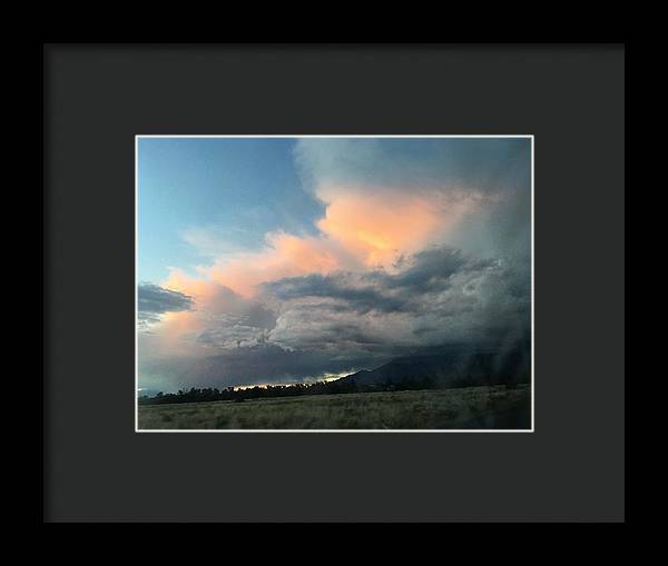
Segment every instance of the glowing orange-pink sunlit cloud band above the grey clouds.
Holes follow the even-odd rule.
[[[446,241],[463,220],[492,202],[458,190],[415,196],[328,186],[321,195],[325,212],[316,236],[271,232],[263,249],[222,254],[199,274],[249,298],[267,281],[390,268],[401,256]]]

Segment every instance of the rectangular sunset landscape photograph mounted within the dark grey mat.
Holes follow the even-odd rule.
[[[135,136],[135,430],[532,433],[533,162],[530,133]]]

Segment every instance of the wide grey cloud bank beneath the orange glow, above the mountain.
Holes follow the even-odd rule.
[[[522,266],[443,246],[404,256],[392,270],[269,281],[253,298],[180,272],[170,286],[191,289],[197,310],[169,312],[159,331],[140,337],[147,386],[151,375],[286,383],[443,344],[498,344],[521,335],[530,307]]]

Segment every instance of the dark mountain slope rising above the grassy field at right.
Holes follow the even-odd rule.
[[[509,349],[450,349],[440,354],[396,358],[372,370],[363,369],[337,381],[357,386],[431,381],[440,387],[528,383],[531,348],[519,344]]]

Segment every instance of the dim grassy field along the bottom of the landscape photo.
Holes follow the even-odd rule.
[[[140,429],[530,428],[527,385],[139,406]]]

